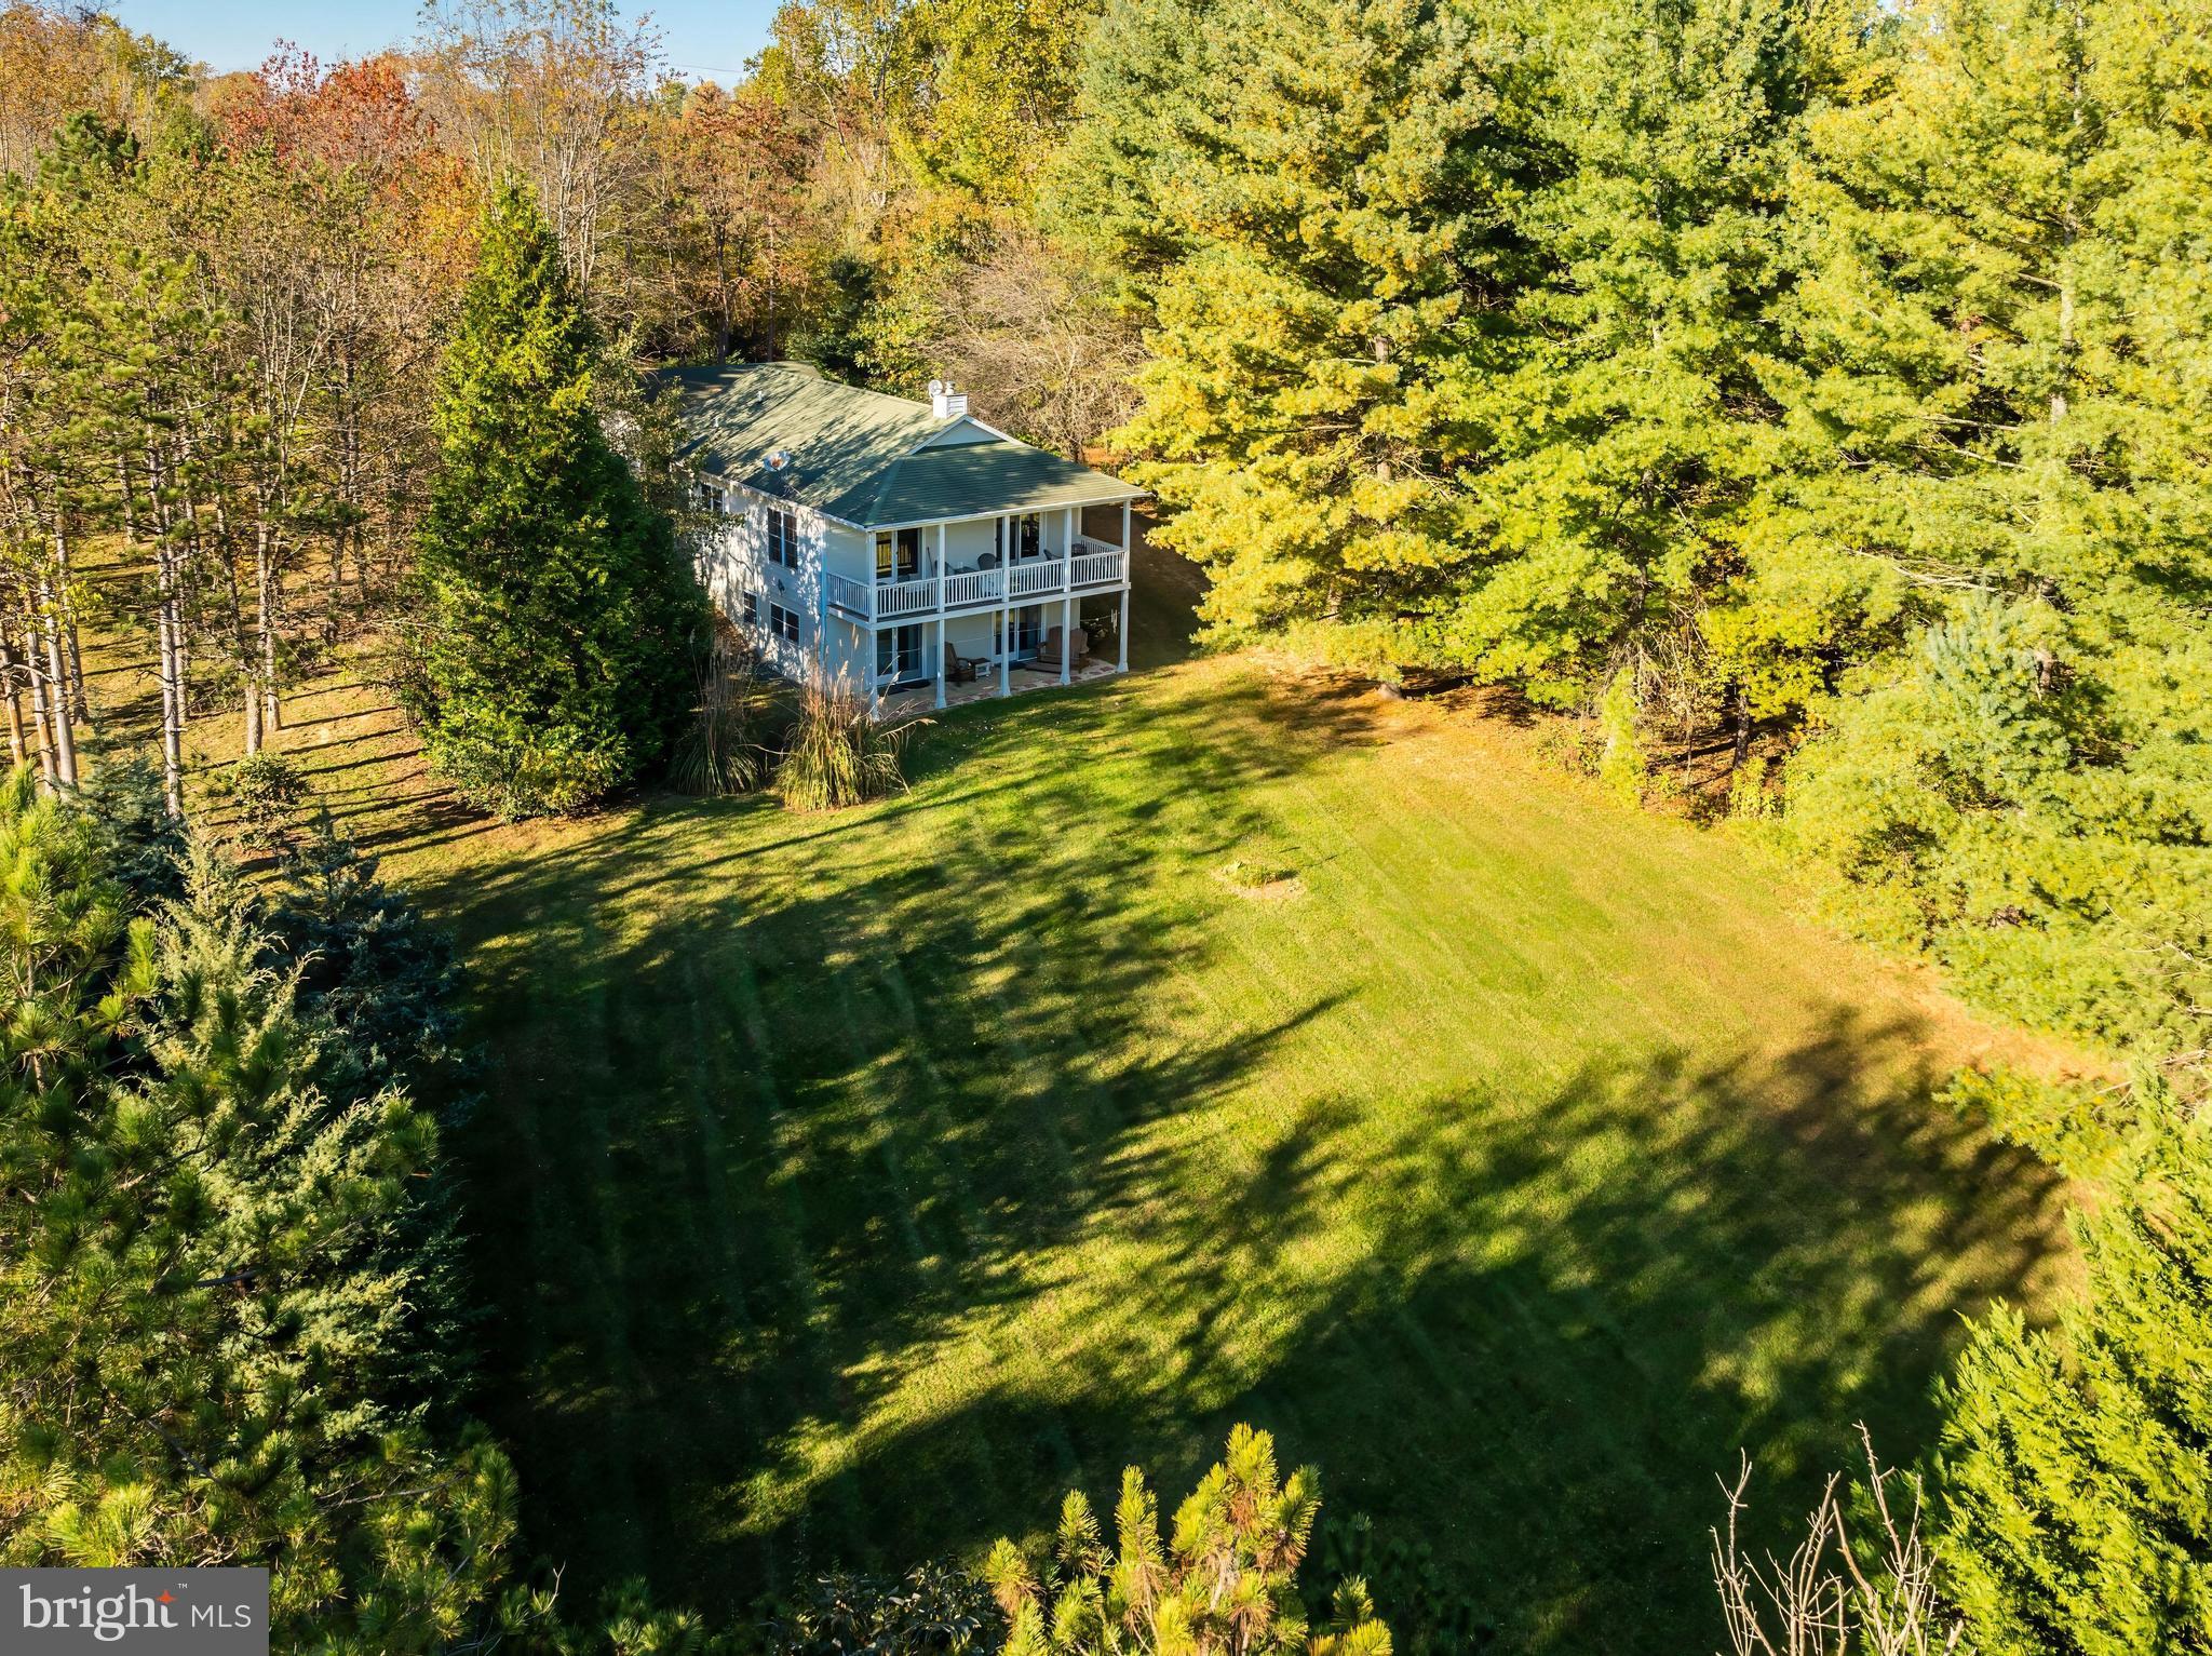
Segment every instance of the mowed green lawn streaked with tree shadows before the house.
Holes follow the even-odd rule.
[[[469,948],[478,1406],[580,1596],[969,1554],[1250,1419],[1500,1649],[1710,1649],[1739,1446],[1778,1534],[2064,1271],[1931,1103],[2011,1037],[1502,721],[1197,661],[865,811],[493,829],[365,692],[294,719]]]

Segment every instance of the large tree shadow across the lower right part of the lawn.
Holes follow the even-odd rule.
[[[816,1563],[973,1557],[1048,1530],[1068,1486],[1110,1510],[1124,1464],[1172,1508],[1248,1419],[1321,1464],[1325,1510],[1429,1541],[1502,1649],[1710,1647],[1705,1526],[1739,1448],[1752,1537],[1787,1550],[1856,1464],[1851,1426],[1922,1453],[1960,1313],[2051,1265],[2044,1167],[1924,1092],[1865,1097],[1865,1066],[1913,1039],[1838,1010],[1781,1059],[1595,1059],[1551,1097],[1436,1097],[1387,1128],[1323,1099],[1225,1203],[1183,1198],[1212,1143],[1108,1145],[1091,1225],[1148,1269],[1097,1298],[1104,1335],[1042,1384],[885,1408],[883,1377],[927,1388],[931,1351],[885,1329],[841,1397],[865,1448],[770,1537]],[[1048,1262],[1029,1291],[1075,1287]],[[825,1426],[772,1446],[794,1484]]]

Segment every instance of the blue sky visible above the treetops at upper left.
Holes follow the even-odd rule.
[[[276,40],[292,40],[323,62],[409,40],[420,7],[411,0],[108,0],[131,29],[159,35],[215,71],[252,69]],[[768,42],[774,0],[668,0],[650,11],[668,60],[688,77],[732,80]]]

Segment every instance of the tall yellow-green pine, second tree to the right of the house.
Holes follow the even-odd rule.
[[[1721,712],[1701,628],[1772,464],[1761,385],[1827,0],[1542,0],[1520,11],[1544,177],[1495,374],[1469,402],[1467,568],[1402,648],[1555,705],[1630,674]],[[1511,15],[1511,13],[1509,13]]]

